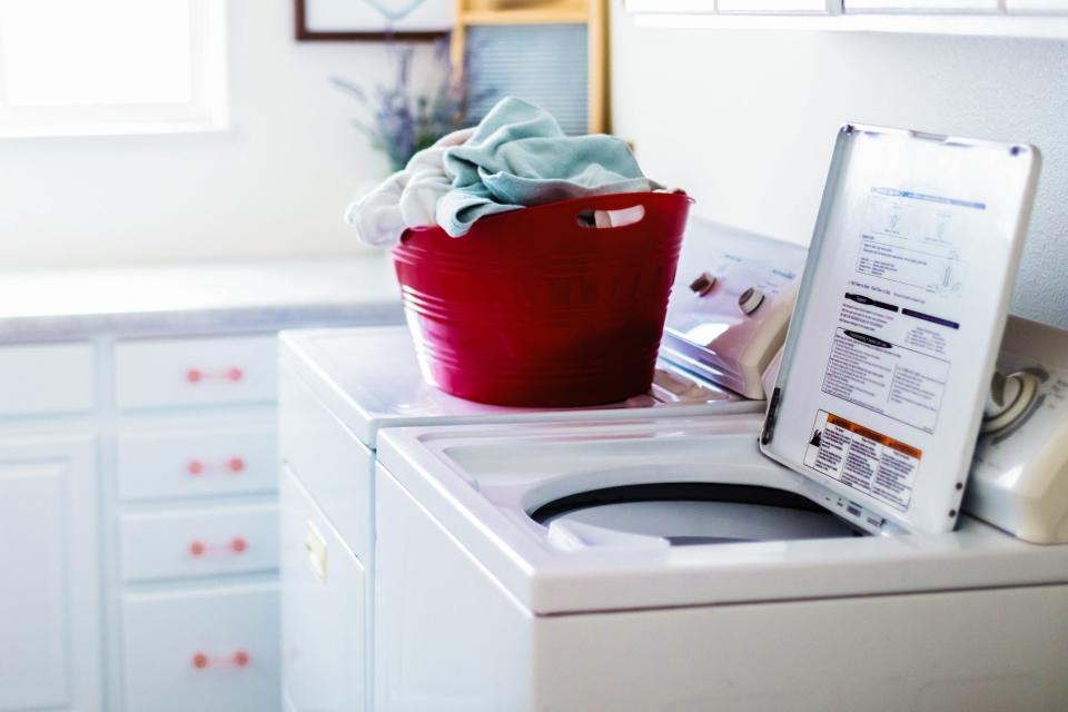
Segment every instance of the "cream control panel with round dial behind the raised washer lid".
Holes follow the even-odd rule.
[[[1068,330],[1009,317],[965,511],[1029,542],[1068,543]]]

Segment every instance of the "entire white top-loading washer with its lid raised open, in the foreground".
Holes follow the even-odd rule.
[[[375,709],[1068,709],[1031,156],[847,127],[764,418],[384,433]]]

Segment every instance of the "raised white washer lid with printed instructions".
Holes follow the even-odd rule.
[[[953,528],[1039,162],[1030,146],[839,132],[761,449],[869,531]]]

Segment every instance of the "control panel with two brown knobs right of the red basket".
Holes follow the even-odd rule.
[[[746,398],[785,338],[808,250],[693,218],[679,258],[661,354]]]

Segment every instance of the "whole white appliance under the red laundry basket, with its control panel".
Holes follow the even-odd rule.
[[[369,705],[380,431],[762,412],[761,374],[783,343],[805,254],[797,245],[692,220],[652,392],[594,408],[506,408],[446,395],[424,383],[403,327],[283,333],[281,609],[289,709]]]

